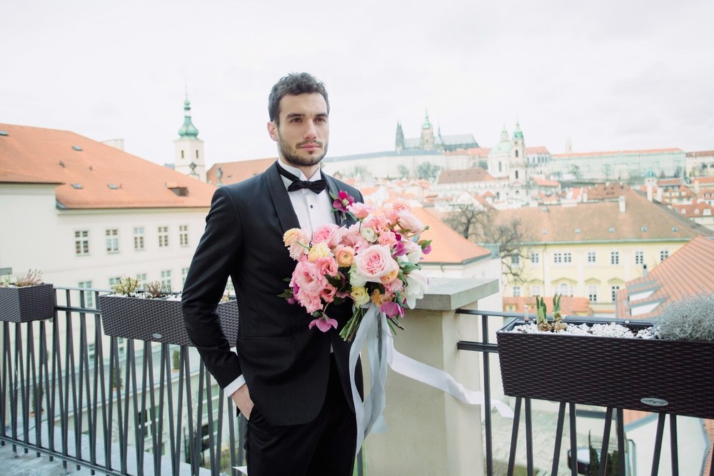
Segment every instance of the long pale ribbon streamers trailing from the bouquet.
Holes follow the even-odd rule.
[[[371,386],[369,394],[362,402],[355,385],[354,373],[357,358],[365,341],[369,352]],[[371,304],[362,318],[350,350],[350,381],[352,383],[352,398],[357,419],[356,453],[361,449],[362,442],[370,431],[376,433],[386,431],[386,423],[382,413],[386,407],[384,382],[387,377],[387,365],[396,373],[401,373],[401,375],[408,378],[443,390],[468,405],[483,405],[483,392],[468,390],[443,370],[398,353],[394,349],[386,315],[379,313],[377,306]],[[501,416],[513,418],[511,407],[500,400],[491,400],[491,405],[496,407]]]

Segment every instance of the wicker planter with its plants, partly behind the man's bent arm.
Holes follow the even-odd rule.
[[[159,281],[139,289],[134,278],[122,278],[114,293],[99,296],[104,333],[115,337],[193,345],[186,334],[181,313],[181,295]],[[218,303],[223,333],[234,344],[238,334],[238,306],[235,300]]]

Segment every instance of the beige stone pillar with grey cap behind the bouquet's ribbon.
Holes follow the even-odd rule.
[[[458,340],[481,340],[480,320],[455,310],[476,309],[479,299],[497,292],[496,279],[432,278],[428,295],[406,313],[406,330],[394,337],[396,350],[445,370],[469,390],[481,390],[478,354],[456,349]],[[365,368],[366,382],[368,372]],[[480,405],[466,405],[388,370],[384,412],[388,430],[366,439],[366,475],[483,474],[483,411]]]

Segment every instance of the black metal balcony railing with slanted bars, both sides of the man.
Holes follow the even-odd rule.
[[[244,464],[243,417],[209,375],[196,350],[188,346],[123,339],[104,335],[96,308],[106,290],[55,288],[51,320],[0,323],[0,444],[14,452],[34,452],[71,466],[107,475],[236,475]],[[457,348],[481,355],[481,390],[491,408],[492,357],[489,341],[494,325],[512,313],[457,310],[481,323],[481,342],[460,341]],[[489,328],[491,322],[491,328]],[[516,398],[506,474],[513,474],[518,450],[521,411],[526,424],[526,472],[534,474],[531,400]],[[560,435],[568,408],[570,454],[575,441],[575,405],[560,402],[550,474],[560,471]],[[628,470],[622,410],[605,411],[605,431],[599,448],[605,467],[610,425],[616,422],[618,474]],[[483,471],[502,474],[494,463],[494,425],[483,411]],[[481,422],[479,422],[481,423]],[[658,471],[664,414],[658,422],[653,472]],[[676,420],[670,417],[673,475],[678,474]],[[368,455],[367,455],[368,457]],[[570,474],[578,462],[568,460]],[[0,463],[1,464],[1,463]],[[358,458],[356,474],[363,474]],[[601,472],[604,474],[604,472]],[[714,472],[711,473],[714,475]]]

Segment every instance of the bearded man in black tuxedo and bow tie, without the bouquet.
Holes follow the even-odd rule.
[[[348,358],[338,330],[351,303],[330,305],[338,328],[308,328],[313,317],[278,297],[296,261],[283,233],[349,225],[329,193],[361,193],[327,176],[320,162],[329,137],[327,91],[313,76],[289,74],[268,97],[268,134],[278,161],[216,190],[206,229],[186,276],[181,308],[206,368],[248,419],[248,473],[352,475],[356,421]],[[228,277],[238,303],[238,340],[228,343],[216,314]],[[236,345],[236,352],[231,345]],[[361,365],[356,368],[361,389]]]

